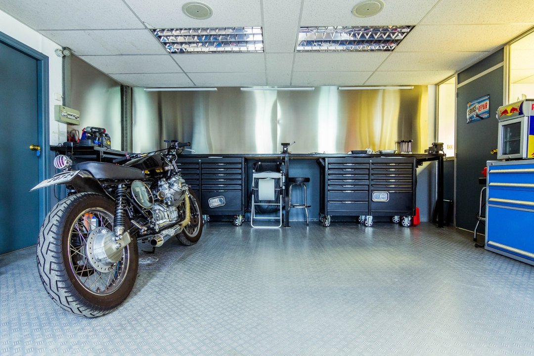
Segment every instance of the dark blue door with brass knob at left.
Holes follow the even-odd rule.
[[[0,254],[37,242],[37,100],[37,60],[0,42]]]

